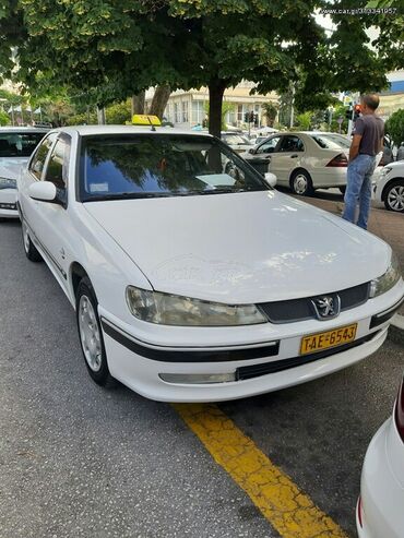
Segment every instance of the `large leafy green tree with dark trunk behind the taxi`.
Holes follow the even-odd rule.
[[[32,91],[68,85],[98,105],[148,86],[205,85],[210,131],[219,134],[224,91],[243,79],[263,93],[285,91],[304,69],[307,97],[387,83],[383,65],[367,47],[370,17],[335,15],[337,28],[326,37],[313,16],[325,3],[9,0],[0,11],[0,59],[10,36],[19,46],[16,76]],[[347,65],[354,65],[349,77]],[[10,61],[3,67],[11,72]]]

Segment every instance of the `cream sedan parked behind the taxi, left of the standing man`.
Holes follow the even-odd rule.
[[[346,187],[350,142],[341,134],[323,132],[282,132],[248,150],[242,157],[259,172],[270,171],[277,184],[295,194],[314,189]]]

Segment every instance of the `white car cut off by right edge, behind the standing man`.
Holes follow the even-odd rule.
[[[384,166],[373,176],[375,199],[389,211],[404,213],[404,160]]]

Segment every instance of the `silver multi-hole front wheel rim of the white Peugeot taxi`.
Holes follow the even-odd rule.
[[[79,331],[85,360],[93,372],[102,367],[102,345],[94,307],[85,295],[79,302]]]

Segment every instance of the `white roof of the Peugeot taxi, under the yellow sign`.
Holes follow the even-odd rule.
[[[185,129],[175,129],[171,127],[156,127],[152,130],[151,125],[69,125],[55,129],[56,132],[67,134],[78,133],[80,136],[95,134],[139,134],[139,133],[155,133],[155,134],[187,134],[188,136],[212,136],[203,131],[190,131]]]

